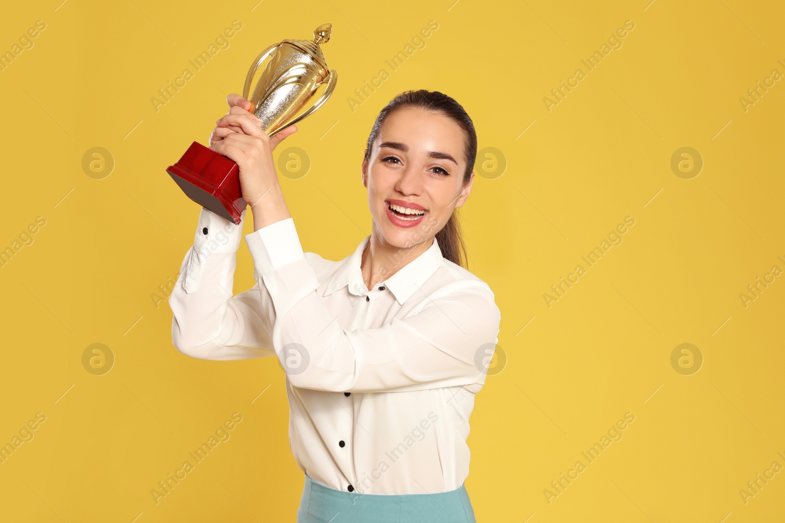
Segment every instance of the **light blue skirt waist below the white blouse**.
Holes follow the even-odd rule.
[[[305,474],[297,523],[476,523],[466,486],[434,494],[360,494]]]

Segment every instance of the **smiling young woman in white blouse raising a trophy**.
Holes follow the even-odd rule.
[[[239,165],[257,285],[232,296],[242,223],[203,208],[169,299],[174,346],[279,358],[305,473],[298,523],[475,521],[466,438],[501,313],[463,267],[455,208],[475,174],[469,115],[426,90],[382,109],[361,167],[371,235],[330,261],[303,252],[276,175],[272,149],[296,127],[271,139],[247,100],[228,103],[210,145]]]

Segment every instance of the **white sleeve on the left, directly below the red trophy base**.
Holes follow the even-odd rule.
[[[275,321],[275,311],[267,290],[254,285],[232,296],[242,238],[243,221],[238,225],[202,208],[194,245],[169,297],[172,343],[181,353],[207,360],[276,355],[270,319]]]

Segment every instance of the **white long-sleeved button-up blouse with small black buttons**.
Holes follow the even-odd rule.
[[[243,211],[243,220],[245,211]],[[245,236],[257,285],[232,296],[236,225],[202,209],[169,298],[192,358],[279,358],[294,460],[314,481],[370,494],[459,488],[469,416],[498,343],[490,287],[433,245],[369,291],[360,259],[303,252],[288,218]],[[385,260],[385,273],[400,260]]]

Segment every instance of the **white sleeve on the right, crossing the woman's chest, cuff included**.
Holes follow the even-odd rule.
[[[484,383],[501,314],[483,281],[447,285],[381,328],[346,330],[317,292],[292,218],[245,239],[254,278],[276,310],[272,346],[295,387],[370,392]]]

